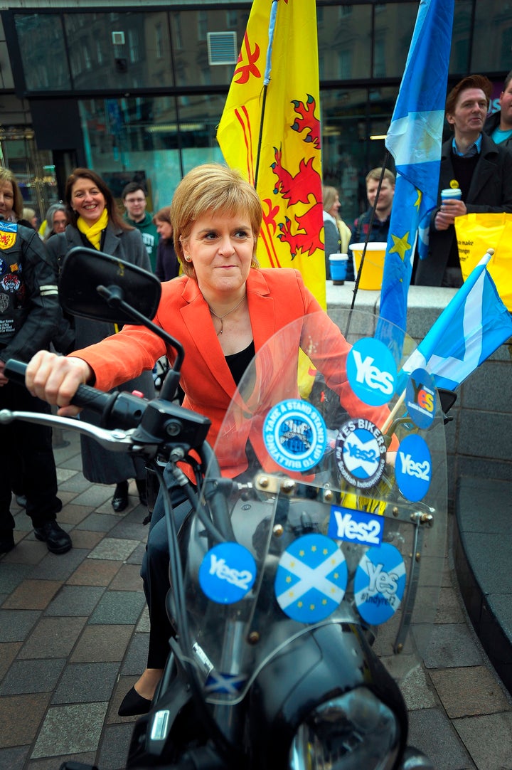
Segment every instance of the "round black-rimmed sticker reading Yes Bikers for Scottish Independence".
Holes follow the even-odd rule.
[[[373,487],[386,465],[386,440],[378,427],[362,417],[340,427],[334,447],[336,465],[353,487]]]

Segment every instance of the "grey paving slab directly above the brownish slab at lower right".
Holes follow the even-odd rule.
[[[477,666],[483,659],[467,624],[443,623],[433,627],[424,661],[427,668],[450,668]]]

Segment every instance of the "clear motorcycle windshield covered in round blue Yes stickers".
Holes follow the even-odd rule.
[[[187,614],[209,702],[239,701],[322,624],[360,628],[399,679],[417,665],[437,608],[447,470],[439,393],[411,370],[415,347],[346,311],[306,316],[257,350],[216,438],[223,476],[208,470],[190,530]]]

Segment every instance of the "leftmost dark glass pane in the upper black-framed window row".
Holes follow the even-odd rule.
[[[28,91],[69,91],[71,78],[67,66],[62,67],[67,59],[61,16],[16,14],[15,27]]]

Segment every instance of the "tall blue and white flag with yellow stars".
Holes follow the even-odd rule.
[[[386,147],[395,160],[380,316],[406,330],[420,223],[437,206],[453,0],[421,0]]]

